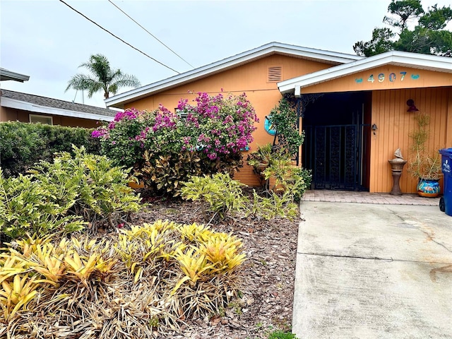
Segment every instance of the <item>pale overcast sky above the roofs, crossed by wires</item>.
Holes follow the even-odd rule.
[[[191,67],[107,0],[64,0],[107,30],[163,64],[179,71]],[[390,0],[293,1],[132,1],[112,0],[159,40],[199,67],[268,42],[354,54],[358,40],[383,26]],[[424,9],[449,1],[422,1]],[[59,0],[0,0],[0,66],[30,76],[3,81],[1,88],[82,102],[65,93],[78,66],[91,54],[104,54],[114,68],[138,77],[142,85],[176,73],[72,11]],[[451,25],[448,26],[451,29]],[[124,90],[123,90],[124,91]],[[102,93],[85,104],[105,107]]]

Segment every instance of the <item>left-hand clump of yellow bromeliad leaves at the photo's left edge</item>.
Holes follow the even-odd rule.
[[[57,245],[51,241],[51,237],[28,237],[10,244],[13,246],[8,247],[9,253],[0,254],[0,306],[5,320],[26,309],[47,284],[58,288],[62,280],[72,280],[88,287],[93,273],[108,273],[116,262],[102,257],[108,243],[103,246],[104,242],[91,241],[93,252],[80,256],[78,239],[63,238]]]

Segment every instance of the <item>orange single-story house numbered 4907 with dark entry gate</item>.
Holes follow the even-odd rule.
[[[297,98],[305,142],[298,160],[312,169],[318,189],[391,191],[388,160],[397,148],[408,157],[415,129],[413,100],[430,115],[429,148],[452,147],[452,58],[408,52],[374,57],[271,42],[233,57],[172,76],[105,100],[107,107],[173,109],[189,93],[246,93],[260,119],[256,145],[273,142],[265,117],[282,95]],[[258,178],[245,166],[236,179],[251,186]],[[404,170],[403,192],[417,179]]]

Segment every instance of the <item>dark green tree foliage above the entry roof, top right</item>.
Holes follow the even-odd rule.
[[[452,57],[452,32],[445,29],[451,20],[451,6],[424,11],[420,0],[392,0],[383,18],[391,28],[375,28],[370,41],[356,42],[353,49],[365,57],[391,50]]]

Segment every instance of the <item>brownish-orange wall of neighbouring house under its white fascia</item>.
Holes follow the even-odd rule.
[[[29,114],[39,114],[44,116],[52,117],[54,125],[61,126],[71,126],[71,127],[85,127],[85,128],[96,128],[97,121],[81,119],[81,118],[73,118],[73,117],[62,117],[59,115],[49,115],[49,114],[41,114],[23,111],[21,109],[12,109],[8,107],[0,107],[0,121],[21,121],[21,122],[29,122]]]

